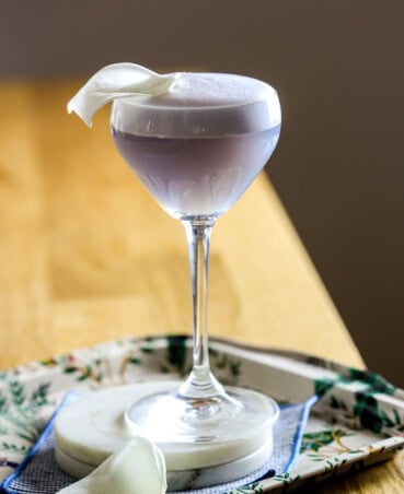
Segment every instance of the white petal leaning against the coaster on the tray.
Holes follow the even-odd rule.
[[[166,491],[165,462],[161,450],[137,436],[120,451],[100,464],[90,475],[60,494],[163,494]]]

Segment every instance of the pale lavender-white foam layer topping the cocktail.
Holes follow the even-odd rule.
[[[115,130],[153,137],[215,137],[259,132],[280,125],[276,91],[256,79],[183,73],[169,92],[114,102]]]

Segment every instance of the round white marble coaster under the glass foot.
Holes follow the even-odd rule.
[[[55,455],[60,468],[74,478],[94,470],[119,450],[132,434],[125,411],[153,392],[176,389],[180,383],[145,383],[96,391],[67,405],[55,422]],[[158,444],[168,469],[169,490],[200,489],[231,482],[262,468],[273,451],[273,431],[226,444]]]

